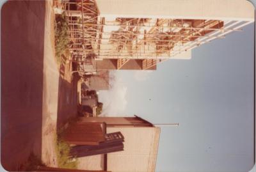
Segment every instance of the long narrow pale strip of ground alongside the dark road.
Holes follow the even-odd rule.
[[[57,167],[56,123],[58,113],[59,71],[54,57],[54,13],[52,1],[45,2],[44,81],[42,111],[42,161]]]

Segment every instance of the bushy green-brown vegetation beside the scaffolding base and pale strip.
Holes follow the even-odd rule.
[[[68,21],[65,17],[65,13],[56,14],[54,23],[55,33],[55,56],[59,64],[63,62],[61,55],[70,56],[68,51],[68,45],[70,43],[68,35]]]

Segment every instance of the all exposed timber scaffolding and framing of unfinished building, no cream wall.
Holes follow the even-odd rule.
[[[70,5],[77,9],[70,10]],[[100,17],[95,0],[67,2],[72,61],[117,59],[121,69],[140,59],[146,70],[253,21]]]

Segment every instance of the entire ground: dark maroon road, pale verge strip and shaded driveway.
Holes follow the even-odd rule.
[[[57,166],[54,139],[77,113],[77,79],[54,58],[52,1],[8,1],[1,11],[1,164],[17,171],[33,152]]]

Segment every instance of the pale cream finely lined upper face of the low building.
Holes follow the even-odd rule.
[[[108,153],[108,171],[155,171],[159,127],[107,127],[107,132],[120,131],[124,151]]]

